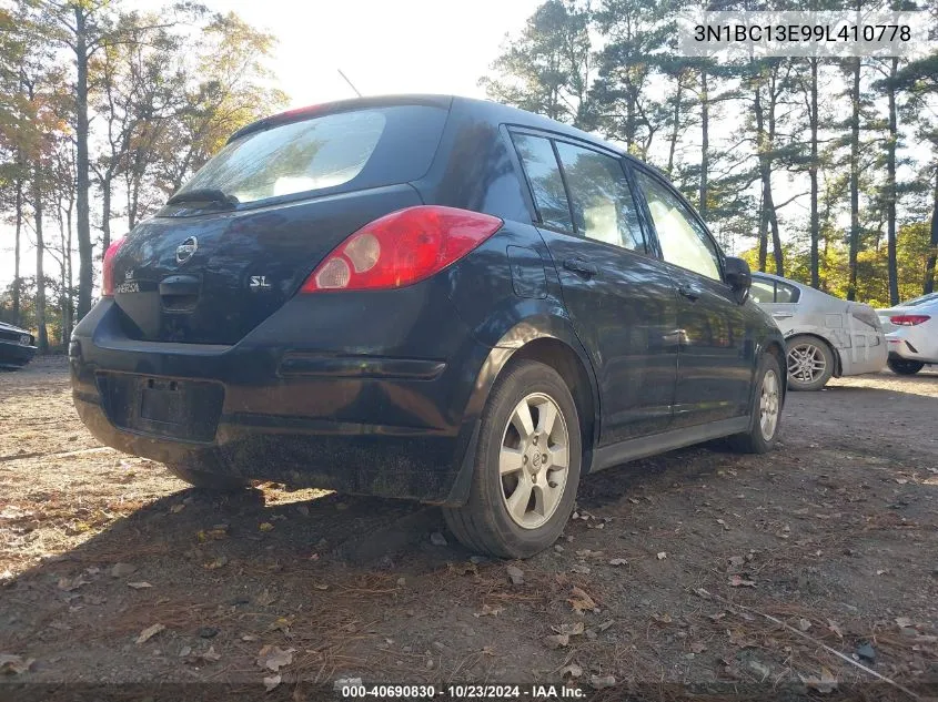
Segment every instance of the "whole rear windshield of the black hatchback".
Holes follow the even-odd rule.
[[[400,105],[249,133],[215,154],[180,194],[214,190],[248,204],[416,180],[430,167],[445,118],[440,108]]]

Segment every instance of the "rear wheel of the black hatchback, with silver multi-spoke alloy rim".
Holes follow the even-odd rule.
[[[468,500],[443,508],[450,531],[466,548],[500,558],[543,551],[573,511],[582,459],[579,417],[563,378],[535,360],[512,364],[482,413]]]

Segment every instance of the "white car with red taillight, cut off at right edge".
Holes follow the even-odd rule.
[[[878,309],[889,347],[889,368],[911,375],[938,364],[938,293]]]

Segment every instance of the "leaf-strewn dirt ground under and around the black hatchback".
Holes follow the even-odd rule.
[[[38,359],[0,374],[0,695],[202,681],[263,698],[266,679],[266,699],[301,700],[340,678],[936,695],[936,416],[938,373],[791,394],[770,455],[698,447],[587,477],[558,545],[506,563],[433,508],[186,489],[100,447],[63,359]]]

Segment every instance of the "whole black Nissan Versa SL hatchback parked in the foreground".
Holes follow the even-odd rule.
[[[192,485],[444,508],[552,543],[582,475],[776,439],[785,342],[655,170],[500,104],[409,95],[235,133],[104,260],[70,346],[104,444]]]

